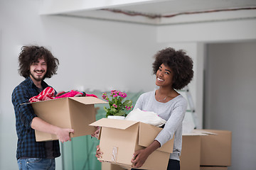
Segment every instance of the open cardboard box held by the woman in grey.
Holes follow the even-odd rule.
[[[148,147],[162,130],[146,123],[108,118],[102,118],[90,125],[102,127],[99,139],[100,151],[103,154],[99,160],[128,167],[132,165],[132,154]],[[166,170],[173,147],[172,139],[150,154],[140,169]]]

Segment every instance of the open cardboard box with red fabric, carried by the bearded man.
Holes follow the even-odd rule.
[[[58,98],[48,101],[31,103],[39,118],[60,128],[72,128],[70,137],[91,135],[95,127],[89,126],[95,122],[94,104],[107,103],[95,97]],[[36,141],[58,140],[56,135],[36,130]]]

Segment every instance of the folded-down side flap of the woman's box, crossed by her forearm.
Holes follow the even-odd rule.
[[[146,123],[139,124],[139,145],[148,147],[154,141],[156,136],[161,132],[162,128]],[[174,138],[159,147],[159,151],[172,153],[174,148]]]

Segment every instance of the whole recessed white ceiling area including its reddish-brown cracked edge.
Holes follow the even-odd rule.
[[[223,12],[234,18],[256,18],[256,0],[155,0],[98,6],[55,13],[61,16],[144,23],[152,25],[223,20]],[[236,13],[234,13],[236,11]],[[238,13],[240,11],[240,13]],[[205,15],[202,18],[202,13]],[[206,16],[210,18],[206,18]]]

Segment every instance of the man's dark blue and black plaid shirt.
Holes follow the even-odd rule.
[[[48,87],[45,81],[41,83],[43,89]],[[30,77],[26,78],[14,89],[11,99],[16,115],[16,132],[18,136],[16,157],[46,158],[46,142],[36,142],[35,130],[31,128],[31,121],[36,117],[29,98],[37,96],[40,90],[33,84]],[[53,141],[53,157],[60,157],[58,140]]]

